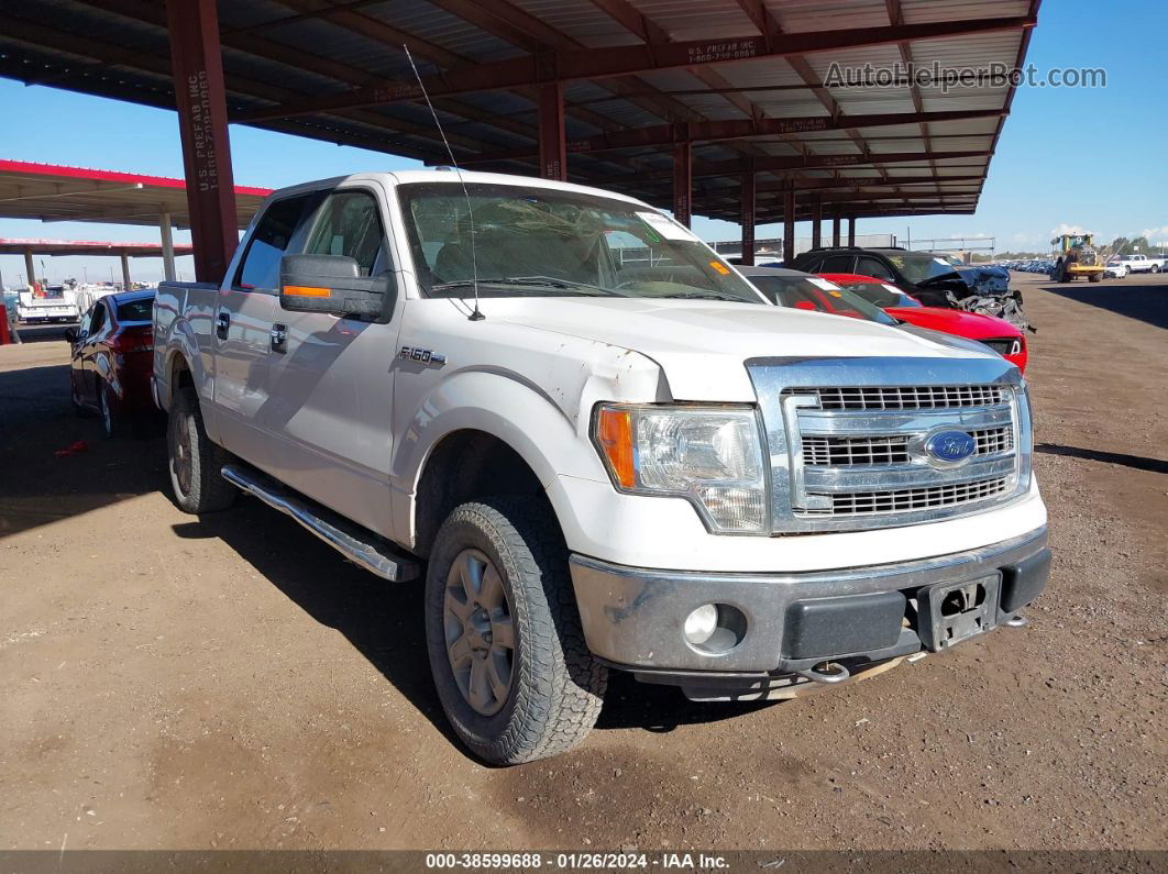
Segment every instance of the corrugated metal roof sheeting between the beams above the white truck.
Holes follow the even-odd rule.
[[[374,105],[353,100],[352,106],[284,111],[304,99],[349,102],[356,89],[370,84],[411,83],[401,48],[408,42],[423,76],[438,77],[432,81],[439,86],[456,81],[472,84],[434,98],[459,159],[484,169],[530,173],[536,166],[538,77],[533,74],[524,82],[513,76],[508,82],[514,84],[481,90],[473,85],[493,82],[489,77],[505,69],[500,64],[522,63],[538,54],[547,61],[542,69],[554,71],[557,57],[572,56],[596,72],[573,71],[564,82],[569,142],[630,131],[646,139],[635,147],[590,145],[593,151],[573,145],[571,177],[604,181],[668,205],[674,131],[682,130],[670,125],[687,121],[689,130],[708,130],[703,135],[716,139],[694,144],[695,191],[723,190],[728,196],[711,201],[709,209],[709,215],[723,218],[736,217],[735,168],[750,166],[751,159],[757,159],[760,179],[787,179],[797,187],[800,180],[882,174],[894,181],[973,175],[979,179],[954,190],[980,190],[979,174],[985,173],[987,158],[944,155],[994,149],[1001,132],[999,113],[1013,96],[1008,86],[825,88],[823,78],[833,63],[894,65],[903,57],[902,42],[918,65],[936,63],[943,71],[1013,65],[1020,61],[1024,32],[1038,4],[899,0],[903,27],[890,19],[890,6],[897,8],[887,0],[763,0],[777,28],[769,35],[773,47],[769,49],[751,18],[757,9],[752,0],[218,0],[228,107],[249,124],[446,162],[430,112],[416,100]],[[895,33],[894,25],[899,28]],[[939,28],[946,33],[938,35]],[[825,50],[839,32],[848,32],[850,47]],[[901,33],[903,40],[894,39]],[[807,46],[801,54],[769,54],[784,48],[784,40],[795,39]],[[626,63],[627,55],[619,53],[646,41],[654,43],[652,50]],[[697,67],[673,65],[673,43],[687,43],[688,63]],[[614,57],[625,65],[604,67]],[[173,106],[169,69],[164,4],[22,0],[6,12],[0,29],[0,75],[23,82]],[[987,114],[895,125],[870,118],[915,116],[918,104],[925,113]],[[865,124],[846,130],[846,120],[855,117],[864,117]],[[819,124],[829,124],[830,130],[759,133],[751,124],[742,128],[752,119],[821,119]],[[722,133],[718,126],[725,124],[739,126],[732,133],[736,139]],[[932,160],[885,161],[878,167],[815,162],[929,151]],[[884,202],[864,201],[863,190],[856,197],[857,208]],[[703,211],[697,194],[695,209]]]

